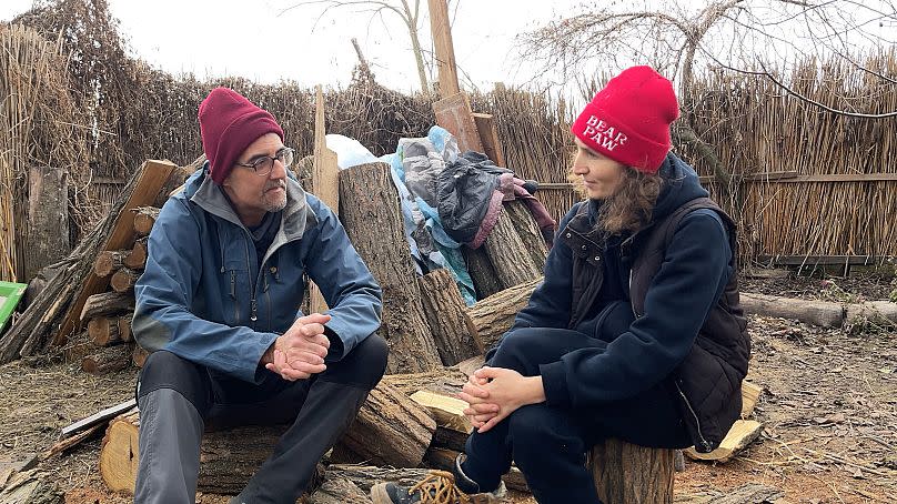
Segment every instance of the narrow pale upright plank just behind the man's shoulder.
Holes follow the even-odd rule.
[[[336,163],[336,153],[327,149],[324,92],[321,85],[315,87],[312,193],[340,214],[340,167]],[[312,313],[324,313],[327,310],[324,295],[314,282],[309,282],[309,306]]]

